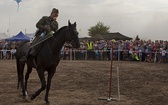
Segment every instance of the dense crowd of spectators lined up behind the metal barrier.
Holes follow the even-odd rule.
[[[0,42],[0,59],[14,59],[20,42]],[[65,44],[61,50],[63,60],[131,60],[140,62],[168,62],[168,41],[142,40],[83,40],[80,48]]]

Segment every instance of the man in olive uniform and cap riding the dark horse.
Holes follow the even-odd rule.
[[[40,46],[38,43],[42,41],[43,39],[47,39],[49,36],[53,35],[58,30],[58,22],[56,21],[58,17],[59,10],[56,8],[53,8],[51,11],[50,16],[43,16],[36,24],[36,27],[38,28],[35,39],[33,40],[30,47],[31,50],[27,52],[26,56],[23,56],[20,61],[26,62],[28,55],[35,56],[37,54],[37,51],[39,50]],[[41,45],[41,44],[40,44]]]

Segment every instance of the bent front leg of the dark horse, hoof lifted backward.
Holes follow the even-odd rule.
[[[31,100],[34,100],[46,88],[44,70],[37,70],[37,72],[41,81],[41,88],[37,90],[34,94],[32,94],[32,96],[30,97]]]

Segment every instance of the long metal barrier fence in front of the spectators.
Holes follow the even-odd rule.
[[[15,59],[15,50],[0,50],[0,59]],[[109,50],[62,50],[60,52],[63,60],[111,60],[112,49]],[[133,52],[138,53],[139,60],[156,63],[159,59],[162,59],[161,52]],[[166,53],[168,60],[168,53]],[[131,54],[129,50],[113,50],[113,59],[117,61],[135,60],[130,58]],[[150,61],[151,60],[151,61]]]

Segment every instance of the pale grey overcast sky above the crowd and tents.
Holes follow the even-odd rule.
[[[34,33],[37,21],[52,8],[60,11],[59,28],[69,19],[77,22],[79,37],[88,36],[88,29],[100,21],[110,32],[168,40],[168,0],[22,0],[19,11],[14,0],[0,0],[0,33]]]

